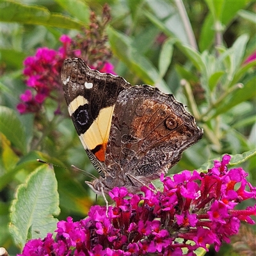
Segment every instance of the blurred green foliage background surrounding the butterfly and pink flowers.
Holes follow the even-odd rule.
[[[113,17],[107,33],[116,73],[132,84],[151,84],[172,92],[188,105],[198,125],[204,128],[204,138],[186,150],[170,173],[200,166],[207,170],[212,163],[209,159],[231,154],[232,163],[242,164],[255,186],[256,60],[244,63],[256,51],[255,2],[106,2]],[[64,33],[81,33],[82,26],[89,24],[90,10],[101,13],[104,3],[0,2],[0,246],[7,248],[10,255],[19,252],[17,246],[22,247],[27,238],[45,236],[46,230],[33,221],[36,218],[42,218],[41,227],[56,223],[56,218],[72,216],[79,220],[95,200],[84,185],[84,176],[63,168],[75,164],[93,172],[71,119],[54,116],[56,105],[50,99],[40,122],[33,114],[19,115],[16,105],[26,88],[24,59],[35,54],[38,47],[58,49],[58,39]],[[61,167],[54,167],[52,172],[37,163],[37,158]],[[42,190],[38,182],[42,182]],[[38,196],[33,198],[28,188]],[[52,196],[39,200],[46,192]],[[19,198],[23,198],[22,204]],[[33,204],[38,211],[31,211]],[[40,204],[49,205],[47,213],[40,210]],[[28,218],[24,220],[20,214]],[[47,214],[51,221],[45,219]],[[54,225],[47,228],[48,232],[55,229]],[[230,252],[234,253],[227,247],[219,255]]]

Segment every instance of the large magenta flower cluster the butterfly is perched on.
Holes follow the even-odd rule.
[[[95,205],[88,218],[73,222],[59,221],[56,239],[26,243],[28,255],[188,255],[199,247],[223,241],[237,234],[240,221],[255,222],[256,205],[234,209],[249,198],[256,199],[256,188],[246,181],[242,168],[228,170],[230,156],[214,161],[208,173],[184,171],[163,176],[163,192],[143,187],[138,195],[125,188],[114,188],[109,196],[115,206]],[[248,189],[248,190],[246,190]],[[178,239],[178,240],[177,240]]]

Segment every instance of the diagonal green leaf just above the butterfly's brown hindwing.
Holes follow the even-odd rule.
[[[122,60],[144,83],[155,85],[163,91],[170,90],[152,63],[132,47],[132,40],[110,26],[107,29],[113,53]]]

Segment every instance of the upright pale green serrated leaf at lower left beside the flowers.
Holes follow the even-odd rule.
[[[10,209],[10,233],[15,244],[23,248],[31,228],[32,238],[45,237],[54,232],[60,214],[57,181],[53,169],[40,166],[29,175],[26,184],[16,191]]]

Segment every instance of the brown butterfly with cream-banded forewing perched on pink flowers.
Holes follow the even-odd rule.
[[[177,164],[203,130],[172,94],[131,86],[82,59],[67,59],[61,81],[68,112],[100,177],[86,182],[95,193],[124,186],[136,193]]]

